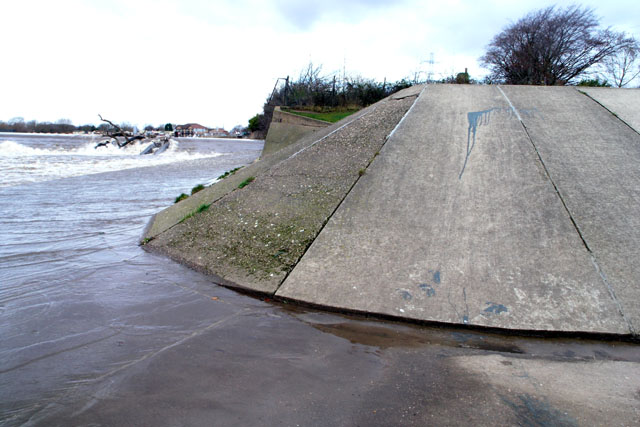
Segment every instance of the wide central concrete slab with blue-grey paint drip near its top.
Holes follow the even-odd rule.
[[[630,332],[498,87],[428,87],[380,154],[277,295],[437,322]]]

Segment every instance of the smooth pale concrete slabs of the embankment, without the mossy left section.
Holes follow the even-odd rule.
[[[276,295],[636,335],[639,92],[588,93],[626,123],[570,87],[427,87]]]

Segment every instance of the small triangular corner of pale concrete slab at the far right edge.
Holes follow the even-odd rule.
[[[581,87],[579,90],[640,132],[640,89]]]

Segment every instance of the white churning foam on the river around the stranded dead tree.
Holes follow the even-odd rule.
[[[31,147],[19,142],[0,142],[0,187],[50,181],[103,172],[218,157],[216,152],[189,153],[179,150],[179,142],[158,155],[140,155],[146,144],[114,145],[95,148],[96,142],[77,146]]]

